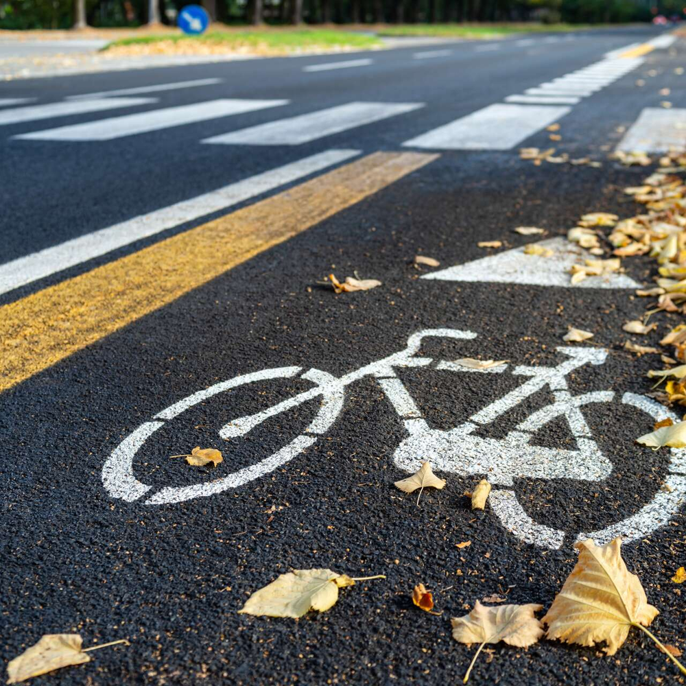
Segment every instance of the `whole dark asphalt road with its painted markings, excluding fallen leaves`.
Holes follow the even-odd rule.
[[[678,320],[622,331],[647,259],[571,288],[512,228],[635,213],[621,189],[647,170],[608,152],[683,135],[685,50],[602,29],[3,84],[3,659],[80,632],[131,645],[33,683],[456,683],[474,648],[449,617],[549,606],[578,536],[617,534],[683,649],[686,469],[635,444],[665,412],[644,397],[660,363],[622,348]],[[330,272],[383,285],[336,295]],[[196,445],[224,462],[169,459]],[[417,506],[392,484],[423,458],[447,485]],[[237,614],[310,567],[387,578],[297,622]],[[683,678],[632,631],[613,657],[495,646],[471,681]]]

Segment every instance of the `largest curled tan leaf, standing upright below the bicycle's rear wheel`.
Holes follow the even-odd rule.
[[[619,537],[605,545],[595,545],[591,540],[574,544],[579,559],[543,617],[548,638],[581,646],[605,641],[605,652],[614,655],[635,626],[664,650],[645,628],[659,611],[648,604],[639,578],[626,569],[621,546]],[[669,654],[667,650],[665,653]],[[670,659],[686,674],[674,656]]]

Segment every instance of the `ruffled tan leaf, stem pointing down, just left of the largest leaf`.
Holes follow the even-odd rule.
[[[486,607],[478,600],[474,609],[464,617],[450,620],[453,627],[453,639],[460,643],[480,643],[478,650],[464,675],[466,683],[472,667],[486,643],[500,643],[508,646],[526,648],[536,643],[543,636],[543,627],[534,612],[543,609],[543,605],[529,603],[526,605],[500,605]]]

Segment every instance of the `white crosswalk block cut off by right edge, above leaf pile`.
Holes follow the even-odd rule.
[[[624,152],[667,152],[686,146],[686,109],[646,107],[619,141]]]

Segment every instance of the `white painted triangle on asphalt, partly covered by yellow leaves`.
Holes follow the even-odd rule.
[[[495,255],[459,264],[454,267],[425,274],[422,279],[438,281],[469,281],[478,283],[518,283],[532,286],[556,286],[570,288],[640,288],[626,274],[589,276],[571,285],[569,270],[574,264],[582,264],[593,255],[572,244],[563,237],[538,241],[538,245],[553,251],[551,257],[526,255],[524,246],[504,250]]]

